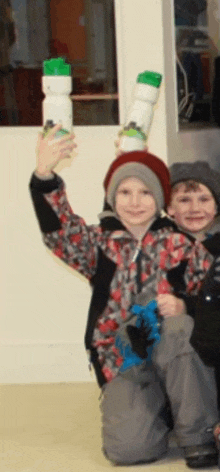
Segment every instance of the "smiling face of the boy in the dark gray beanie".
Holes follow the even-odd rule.
[[[194,183],[190,188],[182,182],[174,187],[167,211],[178,226],[202,238],[217,214],[217,205],[205,185]]]

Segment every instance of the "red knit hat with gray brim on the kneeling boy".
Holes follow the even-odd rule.
[[[159,210],[168,205],[170,176],[164,162],[147,151],[131,151],[117,157],[106,174],[104,189],[106,200],[112,208],[120,182],[129,177],[136,177],[144,182],[153,193]]]

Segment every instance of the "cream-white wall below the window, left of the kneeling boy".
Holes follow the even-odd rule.
[[[78,153],[60,170],[73,208],[88,223],[102,209],[117,130],[76,128]],[[83,344],[90,287],[44,247],[29,196],[38,131],[0,129],[2,383],[91,378]]]

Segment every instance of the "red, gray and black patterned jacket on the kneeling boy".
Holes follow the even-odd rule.
[[[33,174],[30,190],[44,243],[83,274],[93,288],[85,345],[101,386],[117,375],[123,363],[115,336],[140,284],[146,286],[156,273],[156,293],[173,293],[167,272],[186,261],[187,298],[188,294],[197,294],[211,256],[199,242],[178,232],[167,218],[153,222],[141,245],[116,217],[105,217],[99,225],[86,225],[73,213],[64,182],[56,174],[47,181]]]

